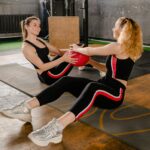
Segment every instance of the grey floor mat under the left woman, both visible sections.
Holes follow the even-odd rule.
[[[99,73],[95,69],[79,71],[77,68],[69,74],[70,76],[86,77],[93,80],[99,78]],[[23,67],[19,64],[8,64],[0,66],[0,80],[26,93],[35,96],[48,86],[42,84],[37,78],[35,70]]]

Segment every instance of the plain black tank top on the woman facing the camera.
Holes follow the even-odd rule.
[[[39,39],[38,39],[39,40]],[[43,43],[45,45],[45,47],[43,48],[40,48],[38,46],[36,46],[35,44],[33,44],[32,42],[28,41],[28,40],[25,40],[24,42],[32,45],[35,50],[36,50],[36,53],[38,55],[38,57],[43,61],[43,63],[47,63],[47,62],[50,62],[49,60],[49,57],[48,57],[48,54],[49,54],[49,50],[48,50],[48,47],[46,46],[46,44],[39,40],[41,43]],[[32,63],[33,64],[33,63]],[[33,66],[36,68],[36,69],[39,69],[36,65],[33,64]]]

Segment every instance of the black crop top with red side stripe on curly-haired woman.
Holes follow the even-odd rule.
[[[134,61],[131,58],[119,59],[115,55],[110,55],[108,56],[106,62],[106,77],[118,78],[127,81],[132,71],[133,65]]]

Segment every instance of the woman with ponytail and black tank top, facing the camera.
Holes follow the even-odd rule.
[[[72,55],[62,52],[39,38],[40,19],[36,16],[26,18],[21,22],[23,45],[22,51],[26,59],[31,62],[37,71],[38,78],[45,84],[52,84],[59,78],[68,75],[76,62]],[[49,53],[57,56],[50,60]]]

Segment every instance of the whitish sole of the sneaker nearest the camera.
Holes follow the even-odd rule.
[[[52,138],[51,140],[47,140],[47,141],[39,141],[39,140],[33,138],[31,136],[31,134],[28,135],[28,138],[36,145],[42,146],[42,147],[48,146],[49,143],[58,144],[58,143],[62,142],[62,135]]]

